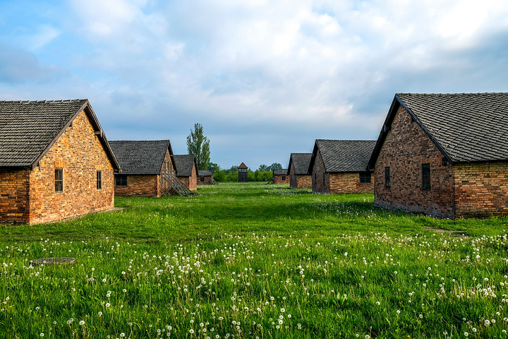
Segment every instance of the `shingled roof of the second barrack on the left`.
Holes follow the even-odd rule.
[[[166,150],[171,153],[169,140],[109,141],[120,163],[122,174],[160,174]]]

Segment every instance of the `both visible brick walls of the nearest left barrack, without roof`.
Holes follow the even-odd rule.
[[[63,169],[61,193],[55,192],[56,168]],[[98,170],[102,189],[97,189]],[[0,177],[0,222],[51,222],[114,208],[113,166],[85,112],[78,114],[38,167],[2,169]]]

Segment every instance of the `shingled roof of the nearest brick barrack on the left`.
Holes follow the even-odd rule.
[[[1,101],[0,167],[29,167],[87,100]]]

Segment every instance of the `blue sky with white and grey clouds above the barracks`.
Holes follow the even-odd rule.
[[[375,139],[395,93],[508,92],[506,0],[3,0],[0,100],[88,99],[109,140],[195,123],[251,169]]]

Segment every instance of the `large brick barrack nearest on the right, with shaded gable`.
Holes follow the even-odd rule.
[[[397,94],[370,159],[375,206],[508,215],[508,93]]]

